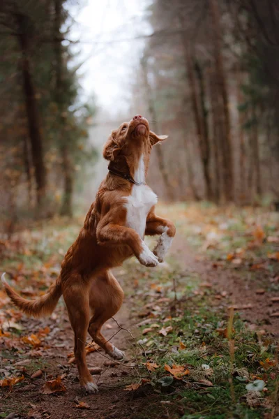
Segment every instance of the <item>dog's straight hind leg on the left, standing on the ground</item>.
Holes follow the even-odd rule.
[[[98,392],[98,387],[93,383],[93,378],[86,364],[86,335],[90,318],[89,293],[81,289],[82,280],[70,284],[63,290],[63,297],[68,309],[70,324],[75,333],[75,362],[80,376],[80,385],[88,393]],[[84,285],[83,285],[84,287]]]

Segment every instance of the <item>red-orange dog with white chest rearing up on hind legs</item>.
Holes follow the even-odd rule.
[[[20,297],[2,275],[10,299],[30,316],[51,314],[63,294],[75,332],[80,385],[86,392],[98,391],[86,365],[87,332],[112,358],[124,356],[100,332],[123,302],[123,291],[111,268],[133,255],[142,265],[158,265],[175,234],[171,221],[156,216],[157,197],[145,183],[151,149],[165,138],[149,131],[149,123],[141,115],[112,131],[103,152],[110,161],[109,173],[100,184],[80,235],[66,253],[59,278],[43,297],[33,301]],[[160,235],[153,252],[144,243],[144,235]]]

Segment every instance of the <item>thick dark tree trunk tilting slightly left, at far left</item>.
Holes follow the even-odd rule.
[[[36,178],[36,198],[40,204],[45,197],[46,169],[43,161],[43,138],[40,132],[38,103],[36,100],[36,89],[33,84],[30,63],[29,63],[29,34],[26,31],[27,17],[17,14],[19,34],[17,36],[22,52],[22,79],[24,101],[27,112],[29,138],[31,153]]]

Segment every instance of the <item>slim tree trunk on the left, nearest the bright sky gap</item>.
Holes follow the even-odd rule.
[[[70,159],[70,150],[67,135],[63,133],[63,127],[66,124],[63,118],[63,112],[66,106],[63,101],[63,56],[60,28],[62,19],[62,1],[54,0],[55,19],[54,19],[54,45],[56,56],[56,104],[58,108],[58,135],[63,168],[63,202],[61,205],[61,215],[73,215],[73,164]]]

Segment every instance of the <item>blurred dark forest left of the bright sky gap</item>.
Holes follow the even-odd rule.
[[[1,219],[71,216],[84,161],[87,126],[96,112],[81,103],[65,0],[0,3]]]

